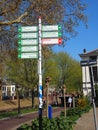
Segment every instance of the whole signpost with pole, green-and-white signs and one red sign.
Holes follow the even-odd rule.
[[[42,130],[42,45],[62,44],[60,25],[42,25],[18,28],[18,58],[37,59],[39,75],[39,130]]]

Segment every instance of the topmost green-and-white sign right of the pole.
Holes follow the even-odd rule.
[[[60,25],[43,25],[42,31],[58,31],[61,30]]]

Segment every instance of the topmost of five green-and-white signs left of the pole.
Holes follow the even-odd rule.
[[[22,26],[18,28],[18,32],[37,32],[37,26]]]

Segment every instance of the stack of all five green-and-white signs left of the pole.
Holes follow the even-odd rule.
[[[36,32],[37,31],[37,32]],[[18,29],[18,58],[38,58],[38,27],[26,26]]]

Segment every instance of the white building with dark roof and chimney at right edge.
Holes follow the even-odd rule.
[[[83,54],[79,56],[81,57],[83,94],[88,95],[91,92],[94,93],[92,86],[98,85],[98,49],[90,52],[84,49]]]

